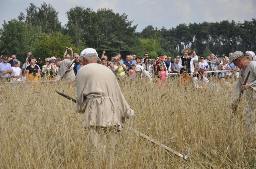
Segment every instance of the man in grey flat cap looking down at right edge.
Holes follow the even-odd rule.
[[[247,60],[243,52],[241,51],[236,51],[233,53],[230,58],[230,63],[232,62],[235,66],[238,66],[240,68],[240,71],[237,86],[232,95],[230,107],[232,109],[236,107],[235,105],[237,105],[239,93],[243,89],[246,99],[244,103],[248,103],[248,114],[245,116],[248,129],[247,134],[249,134],[250,132],[254,132],[254,134],[256,134],[256,62]],[[251,71],[250,76],[248,77],[246,84],[243,84],[249,71]]]

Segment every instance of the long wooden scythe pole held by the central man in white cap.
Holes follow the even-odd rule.
[[[55,91],[56,91],[56,90],[55,90]],[[68,96],[68,95],[66,95],[66,94],[64,94],[64,93],[61,93],[61,92],[59,92],[59,91],[56,91],[56,92],[57,92],[59,95],[61,95],[61,96],[63,96],[63,97],[66,97],[67,99],[70,99],[71,101],[73,101],[73,102],[76,103],[76,99],[74,99],[74,98],[72,98],[72,97],[70,97],[70,96]],[[179,157],[181,157],[182,159],[185,159],[185,160],[187,161],[188,156],[187,156],[186,154],[184,154],[184,153],[179,153],[179,152],[177,152],[177,151],[175,151],[175,150],[173,150],[173,149],[171,149],[171,148],[169,148],[169,147],[167,147],[167,146],[161,144],[160,142],[157,142],[157,141],[154,140],[153,138],[150,138],[150,137],[146,136],[145,134],[142,134],[142,133],[140,133],[139,131],[134,130],[133,128],[131,128],[131,127],[125,125],[124,123],[121,123],[121,125],[122,125],[123,128],[125,128],[125,129],[127,129],[127,130],[129,130],[129,131],[131,131],[131,132],[133,132],[133,133],[135,133],[135,134],[141,136],[142,138],[144,138],[144,139],[150,141],[151,143],[154,143],[154,144],[156,144],[156,145],[158,145],[158,146],[164,148],[165,150],[167,150],[167,151],[169,151],[169,152],[171,152],[171,153],[173,153],[173,154],[175,154],[175,155],[177,155],[177,156],[179,156]]]

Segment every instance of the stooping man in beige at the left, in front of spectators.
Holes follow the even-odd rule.
[[[60,58],[57,58],[55,60],[55,64],[57,65],[58,69],[58,75],[57,79],[61,80],[61,77],[65,74],[67,71],[66,75],[63,77],[63,80],[65,79],[68,82],[74,81],[75,80],[75,73],[74,73],[74,66],[75,64],[69,59],[64,59],[61,61]],[[72,66],[69,68],[69,66],[72,64]],[[69,68],[69,69],[68,69]]]

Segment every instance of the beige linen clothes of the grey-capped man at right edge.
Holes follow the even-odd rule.
[[[248,66],[245,70],[244,77],[241,77],[242,71],[243,71],[243,68],[239,72],[239,78],[238,78],[236,90],[234,91],[234,93],[232,95],[231,103],[237,104],[237,99],[238,99],[239,93],[241,91],[241,86],[242,86],[248,72],[251,71],[250,76],[247,80],[247,83],[250,85],[251,88],[248,90],[244,90],[244,95],[245,95],[245,99],[246,99],[245,100],[246,104],[248,103],[248,106],[247,106],[248,114],[245,117],[246,122],[247,122],[247,125],[251,125],[251,127],[253,127],[256,122],[255,121],[255,115],[256,115],[256,111],[255,111],[255,108],[256,108],[256,61],[250,61],[250,63],[248,64]]]

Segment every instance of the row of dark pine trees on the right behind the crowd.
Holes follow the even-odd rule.
[[[208,47],[214,54],[227,56],[237,50],[256,50],[256,20],[244,23],[223,20],[215,23],[189,23],[188,26],[180,24],[169,30],[163,27],[161,36],[165,39],[161,41],[165,51],[172,45],[174,51],[179,50],[179,54],[182,54],[184,48],[190,48],[202,55]]]

